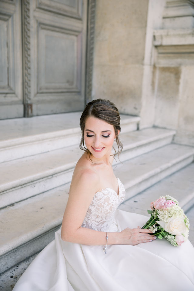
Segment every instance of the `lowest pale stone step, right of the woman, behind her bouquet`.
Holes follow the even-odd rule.
[[[126,191],[126,195],[130,196]],[[178,172],[162,179],[152,187],[138,193],[123,202],[119,209],[149,216],[150,202],[160,196],[170,195],[179,201],[179,206],[184,210],[190,220],[189,240],[194,245],[194,163]],[[150,216],[149,216],[150,217]]]

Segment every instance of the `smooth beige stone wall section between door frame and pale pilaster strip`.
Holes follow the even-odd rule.
[[[96,2],[93,98],[139,115],[148,0]]]

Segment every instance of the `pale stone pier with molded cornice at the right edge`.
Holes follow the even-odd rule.
[[[174,141],[194,146],[194,1],[166,1],[154,31],[154,125],[176,129]]]

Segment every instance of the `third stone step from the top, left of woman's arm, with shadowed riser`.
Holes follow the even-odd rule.
[[[0,210],[0,273],[54,239],[62,222],[69,186],[70,183],[59,186]]]

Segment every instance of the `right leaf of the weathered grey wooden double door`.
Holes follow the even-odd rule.
[[[68,3],[29,2],[29,15],[33,17],[29,19],[30,61],[25,64],[31,75],[25,90],[30,92],[25,98],[26,116],[84,107],[87,1],[71,1],[71,6]]]

